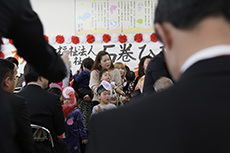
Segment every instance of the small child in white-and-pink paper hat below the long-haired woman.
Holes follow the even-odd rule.
[[[97,88],[97,96],[100,104],[93,107],[92,115],[98,112],[116,108],[116,105],[110,103],[110,90],[110,84],[107,81],[102,81],[101,85]]]

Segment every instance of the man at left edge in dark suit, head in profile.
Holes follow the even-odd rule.
[[[8,92],[8,103],[10,104],[10,113],[13,115],[15,126],[14,149],[21,153],[33,152],[32,130],[30,127],[30,118],[25,99],[12,94],[14,91],[16,73],[15,65],[8,60],[0,59],[1,69],[1,87]]]

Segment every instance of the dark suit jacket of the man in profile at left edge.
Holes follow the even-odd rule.
[[[15,148],[21,153],[32,153],[33,139],[27,103],[22,97],[10,93],[8,102],[16,130],[14,141],[17,146]]]

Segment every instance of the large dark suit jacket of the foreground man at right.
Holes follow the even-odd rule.
[[[92,116],[88,153],[230,152],[230,57],[199,61],[171,88]]]

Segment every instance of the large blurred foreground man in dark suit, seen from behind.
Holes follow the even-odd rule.
[[[88,153],[230,152],[229,0],[159,0],[155,28],[176,81],[92,116]]]

